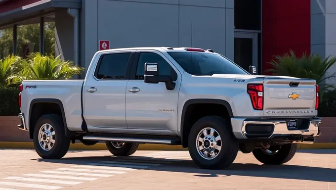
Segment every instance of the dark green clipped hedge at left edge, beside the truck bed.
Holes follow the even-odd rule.
[[[0,87],[0,116],[18,115],[19,87]]]

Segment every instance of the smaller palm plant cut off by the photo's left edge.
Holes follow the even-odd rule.
[[[7,86],[10,84],[10,76],[20,67],[22,59],[19,56],[9,55],[0,59],[0,86]]]

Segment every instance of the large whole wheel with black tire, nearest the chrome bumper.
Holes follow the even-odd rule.
[[[188,147],[193,161],[203,169],[224,169],[235,160],[239,144],[229,122],[222,117],[206,116],[191,128]]]

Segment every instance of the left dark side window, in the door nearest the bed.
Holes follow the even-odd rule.
[[[94,74],[100,80],[122,80],[126,76],[129,53],[111,53],[102,56]]]

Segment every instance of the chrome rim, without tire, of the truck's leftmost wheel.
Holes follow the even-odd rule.
[[[54,128],[48,123],[43,124],[39,130],[39,142],[42,149],[45,151],[51,150],[55,144],[55,139]]]

